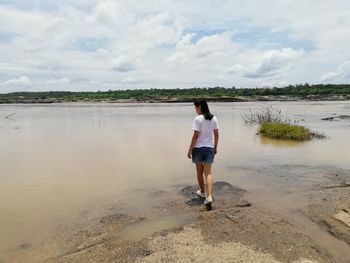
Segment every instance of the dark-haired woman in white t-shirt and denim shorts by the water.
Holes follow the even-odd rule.
[[[192,158],[192,162],[196,164],[200,187],[196,194],[203,198],[205,197],[203,174],[206,177],[208,196],[204,204],[210,205],[213,202],[211,165],[214,162],[219,141],[218,120],[210,113],[206,100],[196,100],[194,106],[198,116],[193,120],[193,136],[187,157]]]

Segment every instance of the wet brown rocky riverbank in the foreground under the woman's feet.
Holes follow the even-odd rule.
[[[246,190],[217,182],[216,201],[208,211],[193,194],[195,186],[186,186],[156,207],[162,216],[195,215],[182,226],[135,237],[131,230],[141,229],[147,218],[114,212],[59,231],[37,247],[40,253],[25,256],[30,244],[18,250],[26,262],[52,263],[349,262],[349,171],[329,168],[316,175],[315,169],[296,170],[308,171],[312,183],[306,184],[306,191],[291,190],[288,197],[276,199],[282,206],[264,198],[254,201]],[[164,194],[155,191],[150,197],[161,199]],[[288,207],[284,198],[307,201],[283,213]]]

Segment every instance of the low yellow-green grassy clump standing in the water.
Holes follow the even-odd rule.
[[[306,141],[313,137],[323,138],[324,135],[315,133],[301,125],[289,123],[263,122],[259,133],[269,138]]]

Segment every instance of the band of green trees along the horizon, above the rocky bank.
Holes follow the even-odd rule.
[[[11,92],[0,94],[0,102],[21,102],[26,100],[157,100],[164,98],[191,99],[205,98],[235,98],[256,96],[307,96],[307,95],[350,95],[350,84],[298,84],[271,88],[225,88],[202,87],[189,89],[126,89],[96,92],[75,91],[41,91],[41,92]]]

